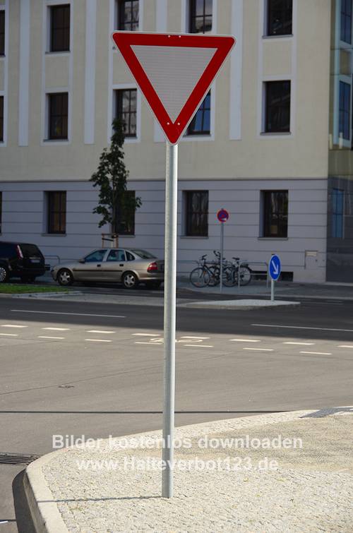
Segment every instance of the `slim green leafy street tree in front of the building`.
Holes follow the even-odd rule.
[[[133,233],[135,212],[141,205],[141,199],[126,188],[128,170],[124,162],[124,124],[120,119],[114,119],[112,126],[110,146],[103,149],[97,172],[92,174],[90,181],[100,189],[98,205],[93,209],[93,213],[101,215],[98,226],[109,224],[112,244],[119,246],[119,234]]]

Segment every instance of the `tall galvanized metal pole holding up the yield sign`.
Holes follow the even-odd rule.
[[[162,498],[173,496],[178,145],[167,143],[164,238],[164,402]]]

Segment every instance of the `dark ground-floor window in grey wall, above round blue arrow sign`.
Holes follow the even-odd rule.
[[[288,191],[263,191],[263,236],[287,237]]]

